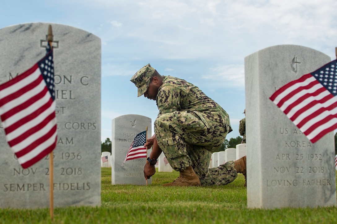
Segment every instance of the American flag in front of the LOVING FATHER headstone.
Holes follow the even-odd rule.
[[[273,101],[315,143],[337,128],[337,62],[324,65],[278,89]]]

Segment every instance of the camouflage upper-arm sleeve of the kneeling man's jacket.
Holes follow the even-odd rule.
[[[186,93],[181,88],[172,85],[162,86],[157,96],[159,114],[179,111],[185,97]]]

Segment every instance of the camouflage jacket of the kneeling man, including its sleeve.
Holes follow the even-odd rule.
[[[208,118],[228,125],[229,132],[232,131],[227,112],[198,87],[183,79],[163,76],[156,101],[158,115],[174,111],[193,111],[201,119]]]

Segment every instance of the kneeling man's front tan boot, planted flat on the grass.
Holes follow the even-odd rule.
[[[201,184],[198,176],[194,173],[192,166],[189,166],[186,170],[180,171],[177,180],[172,183],[163,184],[163,186],[201,186]]]

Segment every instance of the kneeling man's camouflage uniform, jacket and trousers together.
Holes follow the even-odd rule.
[[[208,169],[212,153],[232,131],[226,111],[198,87],[172,76],[163,76],[156,102],[154,132],[172,168],[183,171],[192,166],[202,186],[234,181],[233,161]]]

